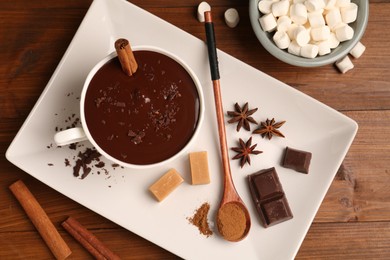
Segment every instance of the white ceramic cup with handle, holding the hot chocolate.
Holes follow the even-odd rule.
[[[150,168],[150,167],[161,166],[162,164],[166,164],[166,163],[176,159],[177,157],[182,155],[187,150],[187,148],[191,145],[191,143],[196,139],[196,137],[198,136],[199,130],[201,128],[201,125],[203,123],[203,117],[204,117],[204,97],[203,97],[203,91],[202,91],[202,87],[201,87],[201,84],[200,84],[200,81],[199,81],[198,77],[195,75],[195,73],[192,71],[192,69],[183,60],[181,60],[179,57],[177,57],[173,53],[170,53],[170,52],[168,52],[166,50],[163,50],[161,48],[154,47],[154,46],[135,46],[135,47],[132,47],[132,49],[134,51],[137,51],[137,50],[147,50],[147,51],[154,51],[154,52],[158,52],[158,53],[164,54],[164,55],[172,58],[176,62],[178,62],[189,73],[189,75],[191,76],[191,78],[192,78],[192,80],[193,80],[193,82],[194,82],[194,84],[196,86],[196,90],[197,90],[198,96],[199,96],[199,116],[198,116],[196,129],[193,132],[192,137],[189,140],[189,142],[180,151],[178,151],[176,154],[174,154],[173,156],[171,156],[171,157],[169,157],[169,158],[167,158],[167,159],[165,159],[163,161],[160,161],[160,162],[157,162],[157,163],[152,163],[152,164],[142,164],[142,165],[130,164],[130,163],[118,160],[117,158],[114,158],[113,156],[111,156],[110,154],[105,152],[96,143],[96,141],[94,140],[93,136],[91,135],[91,133],[90,133],[90,131],[88,129],[88,125],[87,125],[86,120],[85,120],[85,114],[84,114],[85,96],[87,94],[87,90],[88,90],[89,84],[90,84],[92,78],[94,77],[94,75],[96,74],[96,72],[104,64],[106,64],[109,60],[111,60],[112,58],[117,56],[116,52],[113,52],[113,53],[109,54],[108,56],[106,56],[103,60],[98,62],[92,68],[92,70],[89,72],[89,74],[88,74],[88,76],[87,76],[87,78],[86,78],[86,80],[84,82],[84,86],[83,86],[83,89],[82,89],[82,92],[81,92],[81,97],[80,97],[80,119],[81,119],[81,125],[82,126],[81,127],[70,128],[70,129],[67,129],[67,130],[64,130],[64,131],[56,133],[54,135],[54,142],[58,146],[63,146],[63,145],[68,145],[68,144],[72,144],[72,143],[77,143],[77,142],[88,140],[88,141],[90,141],[92,143],[92,145],[96,148],[96,150],[101,155],[103,155],[107,159],[113,161],[114,163],[117,163],[117,164],[119,164],[119,165],[121,165],[123,167],[127,167],[127,168],[145,169],[145,168]]]

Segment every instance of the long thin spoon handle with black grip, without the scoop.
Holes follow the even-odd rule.
[[[209,11],[205,12],[205,29],[206,29],[207,49],[209,53],[211,79],[213,81],[215,109],[217,114],[219,145],[221,149],[222,167],[224,173],[225,188],[224,188],[223,201],[237,200],[239,199],[239,197],[235,192],[231,170],[230,170],[230,164],[229,164],[225,121],[224,121],[224,114],[222,108],[222,95],[221,95],[221,87],[219,81],[220,76],[219,76],[219,69],[218,69],[218,56],[217,56],[217,49],[216,49],[215,35],[214,35],[214,25],[211,18],[211,12]],[[221,204],[223,204],[223,201]]]

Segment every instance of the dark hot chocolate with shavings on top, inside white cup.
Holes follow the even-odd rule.
[[[181,151],[200,117],[193,78],[174,59],[134,51],[138,70],[123,73],[117,57],[93,76],[85,96],[88,130],[98,146],[119,161],[148,165]]]

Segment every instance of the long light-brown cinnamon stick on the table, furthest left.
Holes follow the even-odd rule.
[[[62,239],[57,229],[26,185],[19,180],[11,184],[9,189],[15,195],[20,205],[22,205],[27,216],[30,218],[53,255],[57,259],[67,258],[72,251]]]

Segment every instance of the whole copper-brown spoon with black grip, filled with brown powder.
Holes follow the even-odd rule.
[[[213,81],[214,101],[218,122],[219,144],[222,155],[222,166],[224,174],[223,197],[218,209],[217,226],[219,233],[224,239],[237,242],[245,238],[251,227],[251,219],[244,202],[238,195],[234,187],[229,155],[226,142],[226,130],[224,113],[222,108],[221,88],[219,81],[218,58],[215,46],[214,25],[211,12],[205,12],[205,29],[207,37],[207,47],[209,53],[211,78]]]

